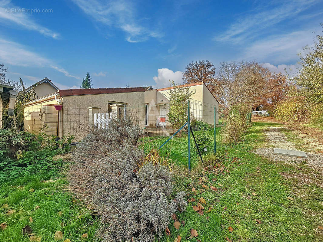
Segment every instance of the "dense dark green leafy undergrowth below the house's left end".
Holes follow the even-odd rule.
[[[61,160],[53,161],[53,156],[66,153],[73,137],[64,137],[56,142],[55,136],[34,135],[13,129],[0,130],[0,181],[24,176],[42,174],[50,177],[57,173]]]

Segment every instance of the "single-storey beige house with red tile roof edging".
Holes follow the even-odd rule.
[[[191,110],[193,116],[202,120],[204,116],[209,115],[208,112],[212,112],[212,120],[209,120],[209,123],[214,124],[214,107],[217,112],[219,104],[205,84],[200,82],[181,87],[189,87],[196,92],[192,97],[192,103],[195,105]],[[164,118],[162,120],[169,126],[167,91],[171,88],[153,89],[150,86],[61,89],[27,103],[25,129],[59,137],[72,134],[78,141],[86,135],[84,129],[82,131],[84,125],[90,123],[104,127],[113,116],[132,116],[140,126],[149,128],[156,125],[157,119]]]

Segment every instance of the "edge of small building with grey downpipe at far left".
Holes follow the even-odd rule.
[[[17,92],[12,86],[0,84],[0,128],[2,128],[3,108],[8,107],[8,115],[14,116]]]

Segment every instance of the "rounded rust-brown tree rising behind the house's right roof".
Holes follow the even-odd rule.
[[[193,61],[185,67],[183,72],[184,84],[204,82],[206,85],[211,83],[215,76],[215,68],[211,61]]]

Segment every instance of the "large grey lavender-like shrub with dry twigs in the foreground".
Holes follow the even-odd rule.
[[[73,152],[69,190],[100,216],[97,234],[104,242],[155,241],[172,214],[185,210],[183,192],[171,199],[172,172],[144,157],[140,136],[130,119],[115,119],[107,129],[93,129]]]

